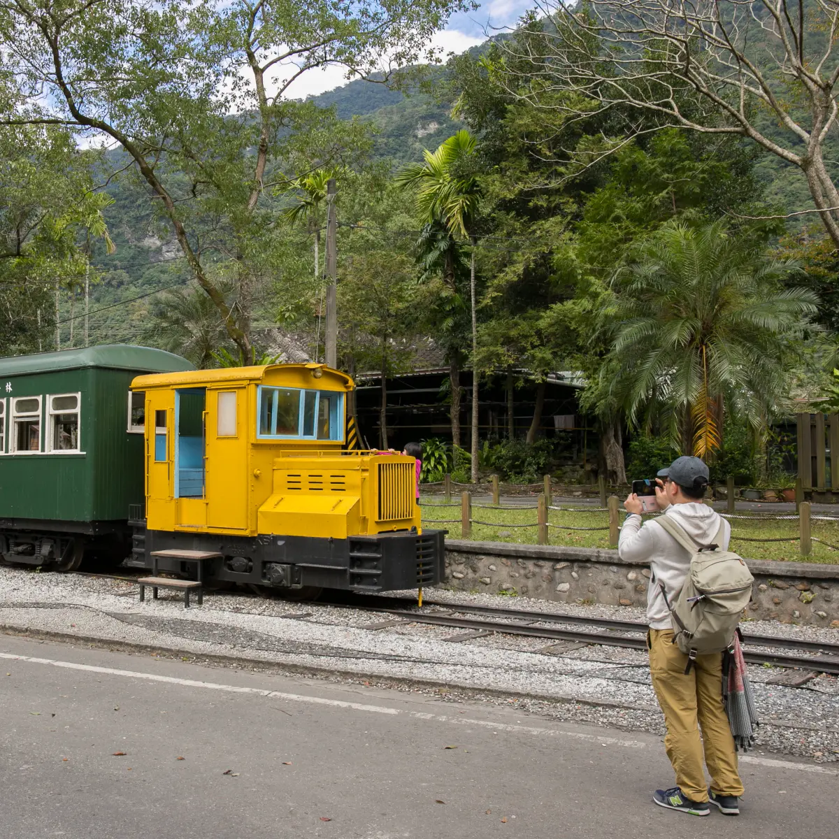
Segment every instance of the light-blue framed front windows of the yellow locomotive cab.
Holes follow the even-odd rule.
[[[334,390],[257,388],[259,440],[343,440],[344,394]]]

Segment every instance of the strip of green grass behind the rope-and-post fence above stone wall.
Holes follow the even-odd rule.
[[[423,524],[435,527],[435,521],[440,519],[457,519],[458,524],[440,524],[441,528],[449,531],[451,539],[461,539],[461,507],[439,507],[435,509],[434,502],[427,498],[422,503]],[[472,524],[472,539],[478,542],[510,542],[513,545],[535,545],[537,542],[536,509],[504,508],[490,509],[472,506],[472,519],[491,524]],[[561,525],[571,527],[602,527],[609,524],[608,513],[591,513],[585,509],[580,512],[559,512],[550,510],[548,513],[550,524],[560,525],[548,529],[550,545],[568,545],[577,548],[608,548],[608,530],[568,530]],[[623,511],[620,521],[623,524]],[[533,527],[513,527],[516,524],[533,524]],[[798,522],[786,519],[784,521],[744,521],[732,520],[732,550],[750,560],[781,560],[786,562],[821,562],[839,564],[839,550],[831,550],[826,545],[813,543],[810,556],[799,553]],[[502,535],[507,534],[507,535]],[[818,539],[839,545],[839,522],[814,521],[812,535]],[[737,541],[737,536],[747,536],[752,539],[780,539],[789,536],[789,541],[783,542],[743,542]]]

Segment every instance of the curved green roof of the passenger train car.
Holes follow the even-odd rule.
[[[77,347],[59,352],[37,352],[30,356],[0,358],[0,378],[28,373],[54,373],[57,370],[78,370],[82,367],[108,367],[112,370],[175,373],[194,370],[195,366],[173,352],[131,344],[102,344],[98,347]]]

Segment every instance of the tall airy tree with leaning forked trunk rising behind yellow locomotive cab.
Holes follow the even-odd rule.
[[[117,143],[230,340],[253,357],[278,175],[346,159],[367,135],[358,123],[332,130],[334,114],[294,102],[289,87],[326,66],[370,76],[383,62],[412,65],[456,8],[461,0],[8,3],[0,39],[15,49],[3,51],[0,123]],[[219,288],[230,274],[234,304]]]

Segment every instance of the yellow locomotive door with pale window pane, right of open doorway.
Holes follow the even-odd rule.
[[[248,530],[248,391],[206,394],[207,528]]]

